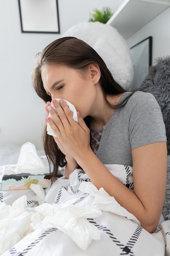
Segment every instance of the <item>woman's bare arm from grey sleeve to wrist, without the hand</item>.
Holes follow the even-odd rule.
[[[90,160],[89,160],[90,159]],[[77,162],[94,185],[101,187],[132,213],[148,232],[155,231],[166,190],[166,142],[148,144],[132,150],[134,192],[130,191],[90,150],[77,156]]]

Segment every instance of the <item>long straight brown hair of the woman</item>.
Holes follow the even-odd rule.
[[[111,105],[107,100],[107,95],[118,95],[126,92],[114,79],[103,59],[87,43],[74,37],[59,38],[44,48],[42,53],[37,54],[37,65],[32,73],[32,84],[35,92],[45,102],[51,101],[51,97],[46,94],[41,79],[42,65],[63,64],[77,71],[84,72],[88,65],[96,63],[101,71],[100,85],[104,99],[111,108],[120,108],[126,104],[131,94],[121,101],[117,106]],[[87,126],[90,126],[89,117],[84,119]],[[46,126],[43,132],[44,151],[49,161],[51,180],[57,179],[58,167],[66,165],[65,155],[60,151],[51,135],[47,135]]]

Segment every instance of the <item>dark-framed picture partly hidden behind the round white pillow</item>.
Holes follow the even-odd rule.
[[[137,90],[148,74],[152,65],[152,36],[142,40],[130,48],[134,65],[132,90]]]

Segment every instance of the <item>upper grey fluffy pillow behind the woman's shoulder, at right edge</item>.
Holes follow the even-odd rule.
[[[150,67],[140,89],[152,93],[159,103],[166,126],[167,148],[170,154],[170,56],[156,59],[155,65]]]

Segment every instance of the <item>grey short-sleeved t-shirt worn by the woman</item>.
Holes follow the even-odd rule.
[[[120,101],[127,96],[125,92]],[[113,113],[103,127],[97,157],[103,164],[132,166],[133,148],[166,141],[166,129],[161,109],[148,92],[135,92],[126,105]]]

